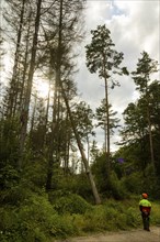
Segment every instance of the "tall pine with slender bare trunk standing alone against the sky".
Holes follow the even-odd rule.
[[[113,74],[123,75],[128,72],[126,67],[121,67],[124,54],[117,52],[111,38],[111,32],[105,25],[99,25],[96,30],[91,31],[92,40],[91,44],[87,45],[87,67],[91,73],[99,73],[99,77],[104,80],[105,84],[105,113],[106,113],[106,163],[107,175],[110,177],[110,114],[108,114],[108,88],[118,86],[118,81],[113,80],[111,77]]]

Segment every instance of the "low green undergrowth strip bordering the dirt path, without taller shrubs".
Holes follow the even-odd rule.
[[[45,193],[19,205],[0,207],[1,242],[49,242],[90,232],[129,230],[141,227],[138,199],[106,200],[92,206],[78,195],[66,195],[50,204]],[[160,224],[160,207],[152,202],[151,224]]]

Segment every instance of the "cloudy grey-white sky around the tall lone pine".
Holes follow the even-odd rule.
[[[104,81],[98,74],[90,74],[85,66],[84,46],[91,43],[91,30],[105,24],[111,31],[115,50],[124,53],[123,65],[129,72],[136,70],[140,53],[146,51],[149,56],[160,63],[160,1],[159,0],[88,0],[84,11],[85,36],[79,46],[79,73],[76,76],[78,91],[82,100],[95,110],[104,98]],[[158,74],[160,80],[160,76]],[[121,87],[108,90],[108,100],[123,124],[123,111],[129,102],[135,102],[138,94],[135,84],[128,76],[119,78]],[[96,131],[96,142],[102,145],[104,134]],[[111,151],[117,150],[114,144],[119,141],[118,132],[111,140]]]

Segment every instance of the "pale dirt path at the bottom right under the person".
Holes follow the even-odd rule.
[[[57,242],[160,242],[160,227],[150,232],[144,230],[107,232],[90,237],[79,237]]]

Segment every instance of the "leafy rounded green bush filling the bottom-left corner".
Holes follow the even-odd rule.
[[[53,208],[43,197],[31,195],[21,207],[1,209],[3,241],[45,241],[52,227]],[[47,240],[46,240],[47,241]]]

